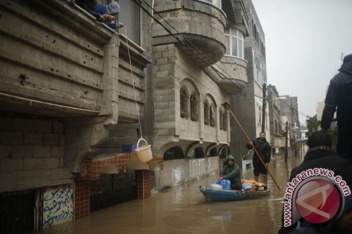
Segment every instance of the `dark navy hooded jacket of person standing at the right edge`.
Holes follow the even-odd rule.
[[[321,117],[322,128],[330,127],[336,107],[339,131],[352,131],[352,54],[345,56],[339,73],[330,81]]]

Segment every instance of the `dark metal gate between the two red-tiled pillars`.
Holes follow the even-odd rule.
[[[101,174],[99,180],[89,182],[90,211],[137,199],[134,171]]]

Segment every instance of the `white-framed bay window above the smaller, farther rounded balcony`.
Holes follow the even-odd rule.
[[[225,28],[226,55],[244,58],[243,33],[234,28]]]

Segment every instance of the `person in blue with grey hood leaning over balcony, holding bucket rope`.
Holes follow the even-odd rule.
[[[122,28],[125,26],[124,24],[115,20],[114,15],[117,15],[117,13],[120,12],[120,4],[118,2],[112,2],[109,5],[98,4],[95,6],[94,12],[100,15],[108,15],[108,17],[100,21],[104,22],[105,25],[112,29]]]

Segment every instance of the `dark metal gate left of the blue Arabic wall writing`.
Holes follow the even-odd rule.
[[[31,233],[37,229],[37,191],[0,193],[0,233]]]

